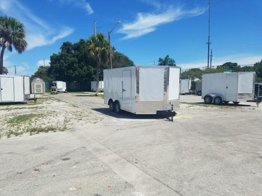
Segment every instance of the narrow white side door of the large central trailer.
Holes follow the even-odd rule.
[[[123,81],[122,81],[122,109],[131,111],[131,70],[123,71]]]

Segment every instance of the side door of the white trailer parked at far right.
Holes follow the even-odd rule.
[[[226,83],[226,101],[237,100],[237,75],[228,74]]]

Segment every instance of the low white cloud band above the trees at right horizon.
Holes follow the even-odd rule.
[[[262,55],[248,55],[248,54],[237,54],[217,57],[212,61],[212,67],[220,66],[225,62],[237,62],[239,65],[254,64],[262,59]],[[181,67],[181,70],[202,68],[208,64],[207,59],[198,61],[192,61],[188,63],[177,63],[177,66]]]

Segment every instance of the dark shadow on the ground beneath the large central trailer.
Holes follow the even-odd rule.
[[[157,114],[133,114],[130,112],[126,112],[126,111],[121,111],[119,114],[113,113],[109,110],[109,108],[91,108],[91,110],[94,110],[96,112],[102,113],[104,115],[107,116],[111,116],[111,117],[115,117],[115,118],[119,118],[119,119],[159,119],[159,120],[166,120],[169,121],[169,119],[166,119],[164,116],[162,115],[157,115]]]

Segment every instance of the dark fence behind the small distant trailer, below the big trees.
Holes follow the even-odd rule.
[[[52,81],[45,81],[46,92],[50,92]],[[91,91],[91,82],[66,82],[67,92]]]

